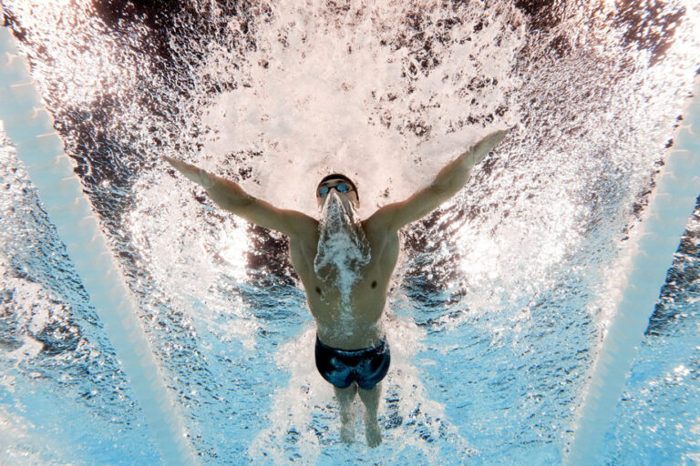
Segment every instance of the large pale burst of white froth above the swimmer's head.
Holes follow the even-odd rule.
[[[426,185],[483,136],[469,117],[499,115],[490,131],[514,124],[506,94],[519,83],[510,69],[523,41],[515,8],[497,5],[486,23],[479,5],[448,12],[431,2],[355,4],[271,6],[252,17],[251,51],[207,46],[195,70],[201,85],[236,88],[191,122],[208,134],[206,156],[194,159],[235,173],[263,154],[248,162],[254,182],[246,187],[314,216],[313,187],[342,171],[358,179],[366,216]],[[449,25],[450,14],[462,24]],[[408,23],[412,16],[422,32]],[[432,56],[419,55],[423,44]]]

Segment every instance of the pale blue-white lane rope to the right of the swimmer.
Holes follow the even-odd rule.
[[[685,106],[684,124],[676,131],[674,149],[664,159],[661,176],[649,200],[623,298],[602,343],[578,412],[567,464],[596,463],[678,248],[678,238],[695,208],[700,192],[700,78],[695,79],[694,95]]]

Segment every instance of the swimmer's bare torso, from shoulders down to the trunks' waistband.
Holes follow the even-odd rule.
[[[360,279],[350,294],[350,308],[344,306],[335,281],[325,282],[314,272],[318,247],[318,229],[290,238],[292,265],[304,284],[309,308],[316,320],[318,337],[326,345],[338,349],[364,349],[375,346],[384,334],[379,320],[386,304],[386,290],[398,259],[399,241],[396,231],[373,228],[362,223],[370,246],[368,264],[355,270]]]

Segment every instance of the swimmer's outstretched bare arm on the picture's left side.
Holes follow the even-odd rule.
[[[172,157],[163,158],[182,175],[204,187],[211,199],[221,208],[256,225],[280,231],[290,237],[306,235],[318,228],[314,218],[295,210],[275,208],[262,199],[252,197],[233,181],[217,177],[200,167]]]

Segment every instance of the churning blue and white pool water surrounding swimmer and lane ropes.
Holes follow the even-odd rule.
[[[425,2],[374,5],[375,23],[360,3],[4,5],[202,464],[561,463],[627,244],[700,66],[697,5]],[[352,53],[334,55],[347,44]],[[342,67],[352,60],[356,74]],[[289,86],[277,64],[307,84]],[[439,73],[448,78],[430,81]],[[332,86],[339,79],[349,91]],[[359,109],[349,106],[357,96]],[[259,121],[258,104],[269,113]],[[347,115],[365,119],[334,126]],[[403,232],[386,319],[385,441],[348,448],[314,369],[313,320],[284,238],[222,214],[158,156],[303,210],[294,187],[345,164],[372,208],[499,125],[516,129],[470,185]],[[362,148],[386,150],[353,152]],[[160,463],[6,138],[0,160],[0,462]],[[656,309],[640,309],[653,318],[601,427],[599,464],[700,461],[698,215]]]

